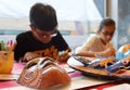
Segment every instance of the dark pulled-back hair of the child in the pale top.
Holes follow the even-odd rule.
[[[115,26],[115,21],[114,21],[114,20],[112,20],[112,18],[104,18],[104,20],[100,23],[99,29],[102,30],[102,28],[103,28],[104,26],[112,26],[112,25]]]

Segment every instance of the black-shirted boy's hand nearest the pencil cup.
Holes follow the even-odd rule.
[[[23,61],[25,62],[28,62],[32,59],[36,59],[36,57],[40,57],[40,55],[36,54],[36,53],[32,53],[32,52],[27,52],[24,57],[23,57]]]

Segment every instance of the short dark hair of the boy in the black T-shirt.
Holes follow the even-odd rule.
[[[57,26],[56,12],[49,5],[36,3],[29,12],[30,24],[41,30],[53,30]]]

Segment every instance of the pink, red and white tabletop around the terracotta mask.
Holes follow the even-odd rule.
[[[109,82],[106,80],[98,80],[96,78],[91,77],[84,77],[80,72],[77,70],[70,70],[69,67],[67,67],[66,64],[61,64],[62,67],[68,70],[68,75],[72,78],[70,86],[67,86],[67,88],[64,88],[64,90],[72,90],[72,89],[78,89],[78,90],[103,90],[108,87],[117,86],[120,83],[129,83],[128,81],[114,81]],[[22,63],[14,63],[14,67],[12,70],[12,74],[21,74],[24,65]],[[25,88],[20,86],[16,80],[9,80],[9,81],[0,81],[0,90],[34,90],[29,88]],[[49,89],[51,90],[51,89]],[[52,89],[54,90],[54,89]],[[55,90],[62,90],[60,88],[56,88]]]

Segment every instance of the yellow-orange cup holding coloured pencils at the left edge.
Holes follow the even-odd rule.
[[[13,40],[0,41],[0,74],[11,74],[14,63]]]

